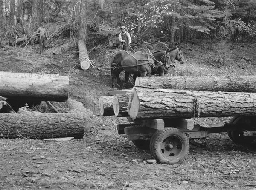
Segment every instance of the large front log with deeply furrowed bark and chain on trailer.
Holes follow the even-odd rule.
[[[256,115],[256,93],[207,92],[134,87],[132,119]]]

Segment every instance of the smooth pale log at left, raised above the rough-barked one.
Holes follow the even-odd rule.
[[[69,77],[0,71],[0,95],[12,100],[67,102]]]

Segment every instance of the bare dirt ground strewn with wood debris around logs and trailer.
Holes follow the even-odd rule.
[[[0,71],[70,76],[69,102],[52,104],[59,111],[76,108],[84,113],[84,138],[65,142],[0,139],[1,190],[256,189],[256,141],[239,145],[232,142],[227,133],[209,134],[205,147],[191,143],[189,155],[182,164],[148,164],[146,160],[153,159],[149,151],[138,149],[127,137],[117,134],[116,124],[128,122],[126,118],[99,116],[99,96],[116,90],[111,88],[109,65],[117,50],[108,49],[104,44],[91,47],[88,49],[90,59],[100,71],[96,68],[83,71],[78,66],[76,45],[69,40],[58,43],[41,55],[38,44],[1,49]],[[255,75],[255,45],[186,44],[185,64],[177,62],[176,68],[167,75]],[[132,85],[123,84],[123,88],[132,88]],[[223,126],[230,119],[199,118],[195,122],[208,127]]]

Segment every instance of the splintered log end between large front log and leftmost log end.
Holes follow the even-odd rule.
[[[127,106],[130,96],[128,94],[117,94],[114,96],[113,108],[115,116],[128,117]]]

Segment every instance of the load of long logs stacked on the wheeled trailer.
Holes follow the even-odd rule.
[[[112,99],[109,115],[137,120],[255,116],[256,76],[137,77],[125,99]]]

